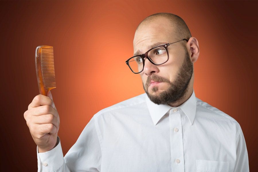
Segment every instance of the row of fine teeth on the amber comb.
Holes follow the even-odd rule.
[[[53,48],[41,48],[41,51],[39,52],[39,60],[44,87],[56,87]]]

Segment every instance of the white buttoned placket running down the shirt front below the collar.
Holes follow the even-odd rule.
[[[169,112],[170,124],[170,147],[171,147],[171,171],[184,172],[184,151],[183,134],[180,108],[175,108]]]

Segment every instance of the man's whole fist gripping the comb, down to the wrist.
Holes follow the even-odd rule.
[[[53,102],[52,94],[37,95],[24,112],[24,118],[30,129],[39,153],[53,149],[57,144],[60,119]]]

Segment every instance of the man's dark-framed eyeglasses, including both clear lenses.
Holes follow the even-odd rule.
[[[188,42],[187,39],[182,39],[180,41],[183,40],[186,40]],[[147,58],[152,64],[155,65],[164,64],[169,60],[169,52],[167,50],[167,47],[174,43],[176,42],[155,46],[147,52],[145,52],[144,54],[136,55],[129,58],[128,60],[126,60],[126,64],[129,66],[131,71],[136,74],[141,73],[143,71],[145,62],[144,58]]]

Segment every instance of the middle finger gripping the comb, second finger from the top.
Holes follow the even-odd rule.
[[[40,116],[46,114],[53,114],[54,116],[58,116],[58,112],[50,105],[43,105],[31,108],[27,110],[26,115],[30,116]]]

